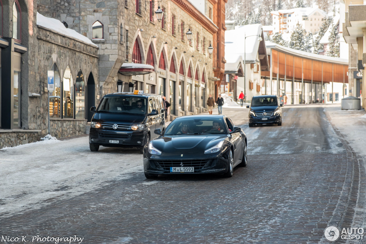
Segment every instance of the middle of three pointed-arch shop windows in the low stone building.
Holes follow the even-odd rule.
[[[67,66],[63,81],[62,81],[62,105],[63,105],[63,118],[73,118],[74,117],[74,81],[72,80],[70,67]]]

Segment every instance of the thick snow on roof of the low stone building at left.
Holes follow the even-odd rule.
[[[92,45],[94,47],[98,47],[98,45],[94,44],[86,36],[83,36],[82,34],[76,32],[75,30],[66,28],[64,24],[61,23],[61,21],[59,21],[58,19],[45,17],[38,12],[37,12],[37,25],[45,27],[46,29],[49,29],[61,35]]]

